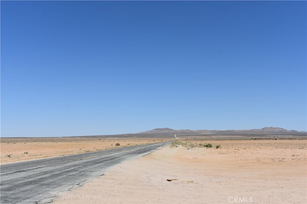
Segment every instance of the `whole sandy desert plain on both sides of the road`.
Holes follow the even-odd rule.
[[[1,163],[173,137],[99,139],[1,139]],[[206,143],[213,147],[204,147]],[[144,157],[115,165],[80,188],[58,193],[53,203],[307,203],[306,149],[304,138],[182,137]]]

